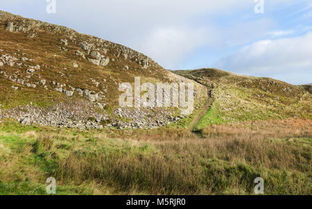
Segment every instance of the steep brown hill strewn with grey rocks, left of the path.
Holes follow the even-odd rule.
[[[119,106],[120,83],[192,82],[195,107],[205,87],[166,71],[142,53],[70,28],[0,11],[0,120],[70,128],[186,126],[177,108]],[[196,114],[196,111],[194,112]]]

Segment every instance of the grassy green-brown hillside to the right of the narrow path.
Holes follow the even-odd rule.
[[[272,78],[240,76],[220,69],[176,71],[212,90],[212,105],[197,128],[211,124],[268,119],[312,119],[309,87]]]

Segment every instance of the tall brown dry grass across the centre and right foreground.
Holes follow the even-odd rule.
[[[121,152],[73,151],[54,174],[62,181],[92,180],[126,194],[252,194],[258,176],[266,182],[266,194],[311,194],[311,141],[270,140],[311,137],[311,122],[276,123],[213,126],[202,131],[207,137],[196,140],[171,140],[177,133],[167,132],[134,140],[137,147],[153,146],[148,153],[132,147]]]

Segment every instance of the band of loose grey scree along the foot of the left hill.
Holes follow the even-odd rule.
[[[14,87],[15,88],[15,87]],[[52,108],[38,108],[24,106],[13,110],[1,110],[0,122],[3,119],[16,119],[25,125],[55,126],[67,128],[157,128],[171,122],[177,122],[182,117],[172,117],[165,110],[153,112],[151,110],[128,110],[118,108],[114,110],[114,118],[94,111],[94,108],[83,101],[76,103],[58,103]]]

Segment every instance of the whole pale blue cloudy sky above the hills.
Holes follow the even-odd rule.
[[[123,44],[165,69],[312,83],[311,0],[0,0],[0,10]]]

